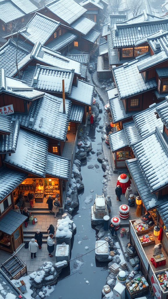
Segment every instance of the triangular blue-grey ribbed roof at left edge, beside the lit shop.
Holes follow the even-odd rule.
[[[27,174],[10,168],[0,168],[0,201],[27,178]]]

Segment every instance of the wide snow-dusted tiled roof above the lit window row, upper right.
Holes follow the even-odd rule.
[[[111,29],[113,47],[129,47],[135,46],[139,39],[145,38],[159,30],[168,31],[168,19],[145,21],[135,24],[121,23],[116,26],[116,30]]]

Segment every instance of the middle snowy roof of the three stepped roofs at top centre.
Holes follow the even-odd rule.
[[[71,27],[78,32],[86,35],[95,25],[96,23],[91,19],[88,19],[85,16],[81,16],[71,25]]]

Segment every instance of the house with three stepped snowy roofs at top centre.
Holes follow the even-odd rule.
[[[54,0],[39,10],[45,16],[68,26],[68,28],[71,28],[73,34],[78,35],[78,38],[73,42],[75,49],[90,52],[92,49],[97,48],[101,33],[93,29],[96,26],[96,22],[84,16],[86,11],[84,7],[74,0]],[[59,39],[60,42],[63,42],[61,36],[59,36]],[[50,46],[54,47],[55,43],[56,41],[52,42]]]

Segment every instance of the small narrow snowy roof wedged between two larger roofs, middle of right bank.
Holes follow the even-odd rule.
[[[137,128],[134,121],[129,121],[128,123],[123,123],[123,129],[126,134],[126,138],[129,146],[134,144],[140,139]]]

